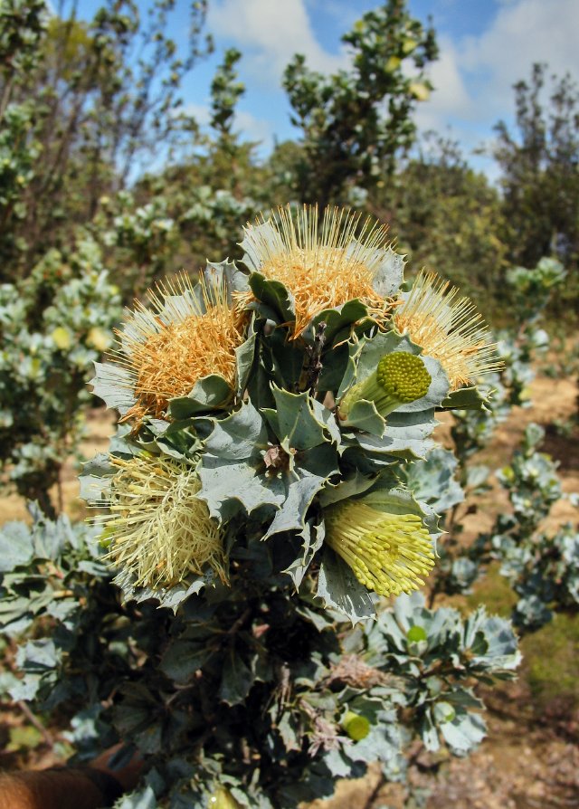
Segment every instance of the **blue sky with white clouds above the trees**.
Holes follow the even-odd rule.
[[[81,0],[81,14],[98,7]],[[139,0],[142,8],[147,0]],[[186,0],[177,0],[172,33],[179,39]],[[296,138],[281,74],[294,52],[305,53],[311,67],[334,71],[347,65],[340,36],[366,11],[371,0],[209,0],[208,30],[214,55],[185,81],[183,97],[200,123],[208,117],[209,85],[223,50],[242,54],[240,78],[246,94],[236,128],[261,141],[261,154],[274,138]],[[491,162],[472,155],[489,143],[498,119],[512,118],[512,85],[527,78],[532,62],[547,62],[560,75],[579,80],[579,0],[410,0],[414,16],[429,15],[438,34],[440,59],[432,65],[435,91],[419,105],[416,121],[460,141],[470,162],[489,176]]]

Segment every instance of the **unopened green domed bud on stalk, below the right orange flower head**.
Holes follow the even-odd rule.
[[[385,417],[403,404],[422,399],[430,384],[431,375],[422,357],[407,351],[394,351],[394,354],[382,357],[373,374],[347,391],[338,405],[337,414],[346,421],[352,406],[365,399],[374,402],[378,413]]]

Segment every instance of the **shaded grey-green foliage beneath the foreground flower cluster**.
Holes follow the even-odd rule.
[[[463,755],[484,735],[470,683],[517,665],[508,623],[432,613],[420,598],[345,633],[306,592],[271,589],[271,545],[249,537],[231,588],[191,595],[176,614],[154,600],[123,604],[93,530],[33,516],[32,529],[0,534],[11,554],[4,631],[34,628],[19,653],[22,679],[3,687],[74,716],[82,757],[117,734],[130,739],[147,756],[149,800],[171,795],[159,806],[201,809],[218,784],[243,806],[296,806],[375,760],[399,779],[403,733]],[[367,719],[365,738],[348,738],[348,711]]]

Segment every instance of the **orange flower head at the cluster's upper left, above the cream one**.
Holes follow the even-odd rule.
[[[169,399],[188,395],[209,374],[220,374],[233,386],[242,314],[229,305],[224,287],[209,290],[202,274],[197,290],[185,275],[157,284],[147,293],[151,309],[137,302],[118,332],[114,359],[128,369],[137,398],[124,420],[158,418]]]

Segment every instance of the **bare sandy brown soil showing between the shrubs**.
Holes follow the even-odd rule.
[[[565,422],[576,412],[577,388],[569,380],[538,376],[531,386],[532,406],[515,408],[501,424],[489,447],[477,462],[497,468],[508,462],[530,422],[546,427],[542,449],[559,462],[565,492],[579,491],[579,432],[561,437],[552,424]],[[439,436],[448,441],[448,424],[441,420]],[[113,420],[104,411],[89,417],[89,433],[83,443],[85,457],[107,449]],[[78,466],[70,460],[62,472],[64,510],[80,519],[84,507],[78,498]],[[498,486],[493,485],[479,498],[475,513],[465,518],[464,538],[468,541],[491,527],[495,517],[508,505]],[[27,519],[22,501],[7,497],[0,505],[0,522]],[[568,500],[555,504],[546,528],[566,521],[576,523],[577,512]],[[527,639],[528,640],[528,639]],[[579,705],[556,694],[542,700],[540,709],[527,683],[525,663],[518,681],[501,683],[481,693],[489,708],[488,738],[470,757],[431,760],[417,758],[415,785],[427,789],[426,809],[560,809],[579,807]],[[11,766],[50,766],[66,757],[62,738],[52,737],[42,723],[22,705],[0,706],[0,768]],[[20,739],[20,741],[19,741]],[[341,781],[337,794],[328,801],[316,801],[308,809],[410,809],[399,785],[384,785],[378,767],[356,781]]]

